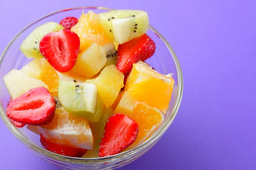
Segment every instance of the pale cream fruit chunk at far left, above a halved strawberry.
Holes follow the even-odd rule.
[[[12,69],[6,76],[3,77],[3,81],[8,89],[8,92],[12,99],[16,99],[21,94],[28,92],[32,88],[48,86],[41,80],[29,77],[22,71]]]

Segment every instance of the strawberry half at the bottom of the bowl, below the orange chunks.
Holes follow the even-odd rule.
[[[134,119],[117,113],[110,116],[99,144],[99,157],[120,153],[137,139],[139,126]]]

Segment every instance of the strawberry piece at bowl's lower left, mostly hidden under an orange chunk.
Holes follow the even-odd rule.
[[[60,155],[81,158],[86,152],[86,149],[69,147],[61,144],[55,144],[48,141],[42,134],[40,135],[40,142],[46,150],[49,150]]]

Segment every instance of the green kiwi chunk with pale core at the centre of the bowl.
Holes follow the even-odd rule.
[[[66,111],[88,122],[98,122],[104,110],[104,103],[93,84],[60,80],[58,99]]]

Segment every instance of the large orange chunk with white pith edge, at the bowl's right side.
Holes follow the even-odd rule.
[[[141,64],[134,64],[125,90],[138,102],[166,113],[172,96],[174,79],[171,74],[163,75]]]

